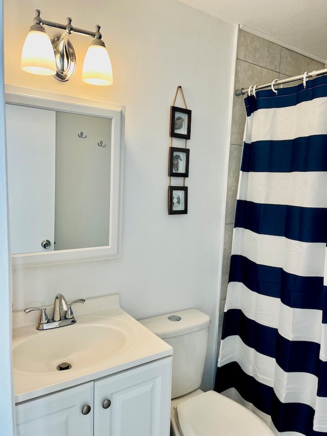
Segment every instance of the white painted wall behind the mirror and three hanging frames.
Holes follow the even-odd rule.
[[[20,50],[36,8],[50,21],[71,16],[89,30],[100,24],[114,84],[82,83],[81,60],[67,83],[22,72]],[[211,387],[235,26],[176,0],[5,0],[4,21],[6,83],[126,105],[121,258],[16,269],[14,309],[51,305],[58,291],[67,300],[118,292],[138,319],[196,307],[213,322],[204,383]],[[82,35],[72,41],[81,59],[89,41]],[[189,213],[168,216],[169,114],[177,85],[192,109]],[[176,105],[183,105],[180,97]]]

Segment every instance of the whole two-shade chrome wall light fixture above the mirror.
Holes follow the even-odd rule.
[[[100,26],[96,26],[96,32],[89,32],[74,28],[72,18],[68,17],[67,24],[62,25],[43,20],[38,9],[35,12],[34,25],[30,28],[21,53],[22,70],[32,74],[54,76],[62,82],[69,80],[75,72],[76,55],[68,35],[76,32],[94,38],[86,52],[82,80],[91,85],[112,84],[111,62],[101,39]],[[50,40],[43,26],[62,29],[63,32]]]

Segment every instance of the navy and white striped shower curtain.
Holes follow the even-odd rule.
[[[327,435],[327,77],[245,99],[215,390],[285,436]]]

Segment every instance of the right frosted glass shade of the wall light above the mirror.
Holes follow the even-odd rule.
[[[112,85],[112,67],[108,52],[104,44],[97,42],[94,40],[86,52],[82,80],[90,85]]]

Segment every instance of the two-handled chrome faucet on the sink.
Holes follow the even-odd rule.
[[[68,304],[65,297],[59,293],[55,296],[52,319],[48,318],[48,315],[46,314],[46,307],[28,307],[25,309],[25,313],[31,312],[32,310],[41,311],[41,316],[36,326],[36,330],[55,329],[57,327],[70,326],[71,324],[76,323],[76,319],[72,311],[72,306],[75,303],[85,303],[85,300],[78,299],[73,301],[73,303]]]

